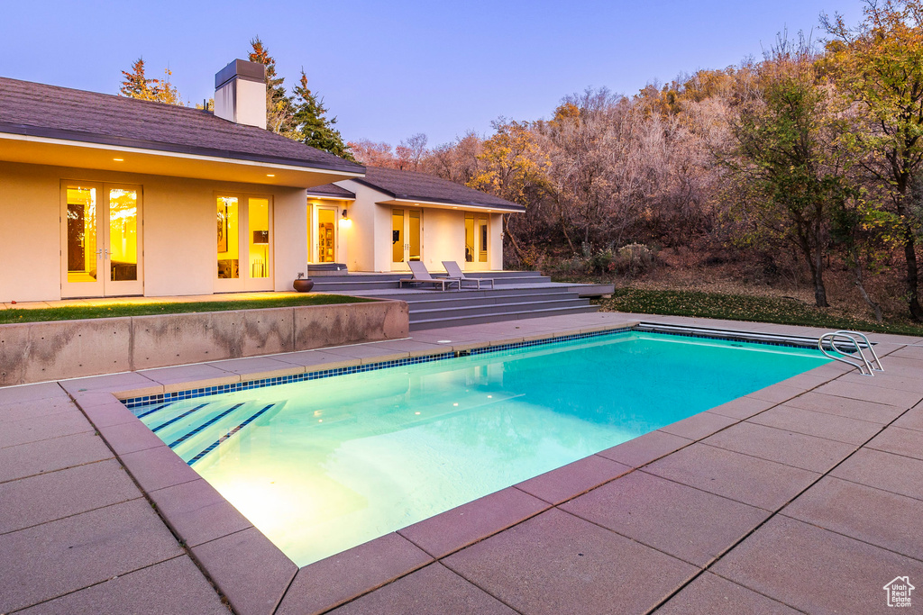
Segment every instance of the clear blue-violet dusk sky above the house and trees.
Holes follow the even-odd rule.
[[[169,66],[183,99],[258,36],[290,90],[308,85],[347,140],[436,146],[498,117],[547,118],[588,87],[633,94],[700,68],[761,57],[777,34],[811,32],[821,13],[856,24],[861,0],[570,0],[272,3],[0,0],[0,77],[115,94],[143,57]],[[3,101],[0,101],[3,104]]]

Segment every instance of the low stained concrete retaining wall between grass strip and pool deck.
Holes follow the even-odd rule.
[[[0,386],[407,337],[404,302],[0,325]]]

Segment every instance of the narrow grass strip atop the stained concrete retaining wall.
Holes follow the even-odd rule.
[[[217,302],[156,302],[118,303],[107,305],[66,305],[49,308],[8,308],[0,310],[0,325],[10,323],[38,323],[52,320],[78,320],[83,318],[117,318],[120,316],[150,316],[152,314],[227,312],[228,310],[258,310],[262,308],[295,307],[301,305],[331,305],[335,303],[364,303],[372,301],[362,297],[342,295],[304,295],[241,299]]]

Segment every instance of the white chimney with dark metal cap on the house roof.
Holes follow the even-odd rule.
[[[215,115],[266,129],[266,66],[234,60],[215,75]]]

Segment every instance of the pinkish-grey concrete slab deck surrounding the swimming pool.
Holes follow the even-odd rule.
[[[873,335],[874,378],[824,365],[300,570],[112,395],[639,320],[823,332],[587,313],[0,388],[0,613],[874,613],[923,579],[919,337]]]

